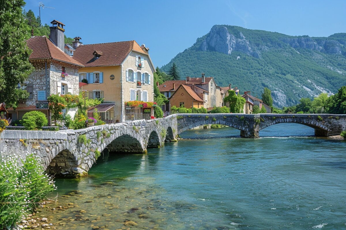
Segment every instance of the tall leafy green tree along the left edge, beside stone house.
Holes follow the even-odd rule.
[[[17,107],[28,94],[17,89],[33,66],[29,62],[31,50],[26,45],[27,24],[22,17],[23,0],[2,0],[0,3],[0,101],[7,107]]]

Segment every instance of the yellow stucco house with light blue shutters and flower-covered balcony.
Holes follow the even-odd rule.
[[[79,81],[88,83],[81,92],[87,98],[104,98],[97,107],[102,120],[150,119],[154,114],[150,102],[154,101],[155,67],[149,49],[136,41],[83,45],[79,39],[73,42],[73,58],[84,65],[79,69]],[[129,101],[149,103],[126,103]]]

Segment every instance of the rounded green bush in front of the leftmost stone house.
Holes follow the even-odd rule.
[[[20,122],[27,130],[42,129],[42,126],[46,126],[48,124],[46,115],[40,111],[31,111],[25,113]]]

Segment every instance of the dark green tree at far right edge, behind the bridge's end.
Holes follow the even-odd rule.
[[[346,86],[328,98],[326,108],[328,113],[346,114]]]

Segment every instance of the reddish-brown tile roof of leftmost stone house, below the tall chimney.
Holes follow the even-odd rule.
[[[83,66],[82,63],[74,60],[69,55],[57,48],[46,36],[31,37],[26,41],[28,47],[33,50],[30,59],[53,59],[60,62],[69,63],[75,66]]]

